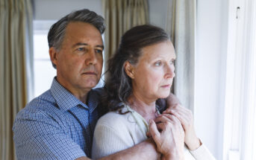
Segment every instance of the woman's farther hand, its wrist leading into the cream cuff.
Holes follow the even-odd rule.
[[[163,115],[175,115],[176,118],[181,122],[185,132],[185,144],[190,150],[196,150],[200,147],[201,142],[196,136],[193,123],[193,114],[190,109],[186,109],[180,104],[170,106],[163,112]],[[167,116],[168,117],[168,116]]]

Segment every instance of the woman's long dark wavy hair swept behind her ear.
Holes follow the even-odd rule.
[[[143,48],[159,42],[169,40],[168,34],[162,28],[153,25],[139,25],[127,31],[121,39],[119,48],[108,61],[107,80],[104,85],[106,95],[103,96],[102,105],[115,111],[128,103],[132,94],[131,78],[125,72],[125,62],[136,65]],[[161,100],[157,100],[158,106]]]

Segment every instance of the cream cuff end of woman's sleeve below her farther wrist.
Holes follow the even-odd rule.
[[[205,147],[205,144],[202,144],[196,150],[190,150],[190,153],[196,160],[216,160],[210,153],[210,151],[207,149],[207,147]]]

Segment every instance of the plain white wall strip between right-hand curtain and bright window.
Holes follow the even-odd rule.
[[[222,159],[228,1],[197,1],[195,124],[202,141]]]

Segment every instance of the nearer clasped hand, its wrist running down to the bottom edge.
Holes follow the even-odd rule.
[[[159,117],[149,124],[149,133],[157,144],[158,152],[163,159],[184,159],[184,129],[175,116],[172,118]],[[159,131],[159,130],[160,131]]]

